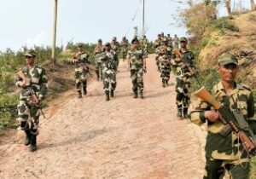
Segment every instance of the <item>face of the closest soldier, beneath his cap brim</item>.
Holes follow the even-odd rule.
[[[238,66],[233,63],[224,66],[218,66],[218,73],[220,75],[220,78],[226,82],[234,82],[237,72]]]

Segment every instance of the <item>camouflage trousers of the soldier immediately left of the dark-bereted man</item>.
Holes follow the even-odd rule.
[[[102,79],[103,79],[103,90],[109,91],[109,84],[110,90],[115,90],[116,88],[116,72],[114,70],[108,70],[102,72]]]

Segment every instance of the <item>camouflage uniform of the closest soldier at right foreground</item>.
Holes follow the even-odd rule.
[[[254,105],[252,92],[243,84],[236,84],[235,89],[227,95],[221,82],[213,87],[212,95],[224,106],[229,107],[231,112],[238,107],[246,121],[253,117]],[[205,101],[197,99],[192,101],[189,107],[191,121],[195,124],[206,122],[204,113],[212,107]],[[249,160],[247,153],[238,141],[237,134],[230,132],[227,136],[221,136],[224,124],[218,120],[214,123],[208,121],[208,135],[206,144],[206,174],[205,179],[222,178],[224,168],[230,169],[232,178],[248,178]],[[241,164],[243,165],[237,165]]]

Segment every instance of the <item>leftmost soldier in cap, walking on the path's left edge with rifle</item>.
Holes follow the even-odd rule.
[[[35,65],[36,52],[26,51],[26,67],[18,72],[16,86],[21,88],[20,101],[17,106],[20,129],[25,131],[24,144],[30,145],[29,150],[37,150],[37,136],[41,102],[48,89],[48,78],[42,66]]]

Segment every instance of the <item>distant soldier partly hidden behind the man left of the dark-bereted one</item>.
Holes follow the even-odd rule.
[[[96,44],[96,47],[94,49],[94,55],[96,57],[96,76],[97,80],[99,81],[100,79],[102,80],[102,61],[100,60],[100,55],[104,51],[104,47],[102,45],[102,39],[98,39],[98,43]]]

